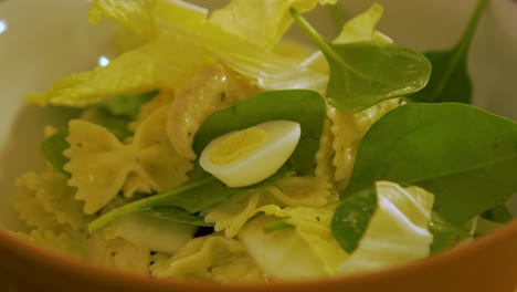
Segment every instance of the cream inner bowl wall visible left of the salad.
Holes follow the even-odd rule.
[[[61,111],[23,106],[23,96],[45,90],[60,76],[87,70],[113,52],[113,30],[89,25],[87,6],[56,0],[0,3],[0,226],[18,227],[8,201],[17,191],[15,177],[43,166],[42,126],[64,121],[56,114]]]

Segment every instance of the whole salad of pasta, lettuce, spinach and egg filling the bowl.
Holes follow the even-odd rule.
[[[46,126],[48,169],[18,180],[22,236],[220,283],[372,271],[471,240],[464,223],[517,189],[515,123],[418,102],[425,54],[377,30],[379,4],[326,40],[300,12],[334,2],[92,1],[126,51],[28,96],[81,113]],[[319,51],[279,41],[292,22]]]

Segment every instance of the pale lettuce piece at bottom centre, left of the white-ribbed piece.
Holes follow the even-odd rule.
[[[267,275],[282,280],[328,277],[348,258],[330,233],[330,209],[282,209],[274,205],[262,209],[271,216],[253,218],[238,238]],[[278,218],[293,228],[265,232],[264,228]]]

